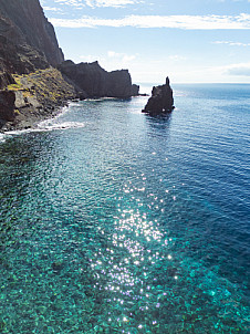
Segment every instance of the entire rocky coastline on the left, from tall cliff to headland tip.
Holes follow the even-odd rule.
[[[127,70],[64,62],[39,0],[0,0],[0,128],[30,127],[76,97],[126,98],[138,90]]]

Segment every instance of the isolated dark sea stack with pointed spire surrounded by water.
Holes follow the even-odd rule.
[[[173,90],[169,84],[169,79],[166,79],[166,84],[154,86],[152,97],[149,97],[143,113],[152,116],[170,113],[174,109]]]

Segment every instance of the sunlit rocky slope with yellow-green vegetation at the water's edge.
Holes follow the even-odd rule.
[[[74,87],[53,67],[13,77],[14,84],[9,85],[8,91],[0,91],[0,128],[3,131],[33,127],[75,97]]]

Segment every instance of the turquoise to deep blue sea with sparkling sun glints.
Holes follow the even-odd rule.
[[[173,90],[0,135],[0,333],[250,333],[250,85]]]

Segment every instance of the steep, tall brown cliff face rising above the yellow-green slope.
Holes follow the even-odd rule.
[[[39,0],[0,0],[1,73],[30,73],[63,60]]]

